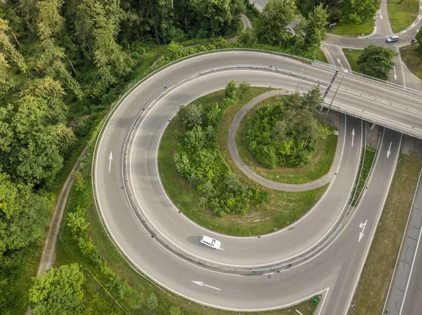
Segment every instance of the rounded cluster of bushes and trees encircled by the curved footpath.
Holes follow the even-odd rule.
[[[316,86],[304,96],[297,92],[252,114],[245,142],[257,162],[272,169],[309,165],[318,140],[331,133],[314,117],[316,106],[321,102]]]

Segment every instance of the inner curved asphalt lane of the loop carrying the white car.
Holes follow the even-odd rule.
[[[294,89],[296,79],[283,78],[267,72],[234,70],[217,72],[189,81],[158,102],[136,130],[136,141],[130,154],[129,185],[132,182],[136,200],[146,214],[168,241],[175,246],[214,264],[226,264],[236,267],[261,266],[291,259],[305,252],[326,236],[335,225],[340,213],[347,207],[354,185],[354,177],[359,166],[361,153],[362,123],[359,119],[348,118],[346,127],[345,152],[340,162],[340,171],[323,199],[314,210],[295,224],[276,234],[269,234],[258,239],[253,237],[234,238],[205,231],[191,221],[185,220],[172,203],[166,198],[160,185],[156,168],[156,153],[162,131],[167,121],[174,116],[181,104],[191,102],[200,95],[224,88],[231,79],[248,81],[252,86],[278,86]],[[281,86],[279,86],[281,87]],[[307,91],[311,83],[303,84]],[[195,92],[193,92],[195,91]],[[350,129],[350,130],[349,130]],[[352,147],[352,130],[355,130],[354,147]],[[132,176],[131,176],[132,175]],[[282,210],[282,209],[281,209]],[[201,246],[198,240],[202,234],[215,236],[222,241],[224,250],[210,250]],[[281,242],[280,240],[283,239]],[[277,248],[277,250],[274,250]]]

